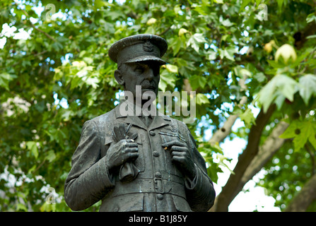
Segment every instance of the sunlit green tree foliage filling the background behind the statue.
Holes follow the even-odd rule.
[[[108,49],[141,33],[168,41],[160,90],[197,92],[197,120],[188,126],[214,182],[226,167],[221,141],[247,141],[242,167],[226,185],[233,189],[223,187],[223,194],[231,200],[238,194],[257,149],[281,121],[289,125],[279,134],[284,143],[258,185],[283,210],[315,175],[314,1],[4,0],[0,6],[1,211],[70,210],[64,180],[81,126],[119,99]],[[261,109],[258,116],[252,107]],[[245,126],[230,131],[233,117]],[[204,139],[210,129],[215,142]],[[231,200],[215,210],[227,210]]]

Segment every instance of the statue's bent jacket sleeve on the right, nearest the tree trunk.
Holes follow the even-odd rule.
[[[187,126],[185,127],[187,128]],[[213,182],[207,174],[204,158],[197,150],[197,144],[188,128],[187,137],[189,138],[188,147],[192,151],[196,169],[196,175],[193,180],[185,179],[187,202],[193,211],[207,211],[213,206],[216,196]]]

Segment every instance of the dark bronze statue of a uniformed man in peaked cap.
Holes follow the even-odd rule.
[[[137,85],[157,95],[167,47],[157,35],[115,42],[109,56],[117,83],[134,97]],[[65,182],[67,205],[84,210],[102,200],[100,211],[209,210],[213,182],[187,126],[165,115],[122,114],[122,103],[83,124]],[[133,113],[141,105],[133,102]]]

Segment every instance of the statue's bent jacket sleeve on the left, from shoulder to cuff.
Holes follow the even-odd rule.
[[[64,187],[64,198],[71,210],[92,206],[114,186],[105,158],[100,158],[100,145],[98,126],[86,121]]]

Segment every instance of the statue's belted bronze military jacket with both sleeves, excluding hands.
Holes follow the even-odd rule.
[[[105,164],[107,150],[115,144],[112,129],[121,123],[131,124],[130,133],[137,134],[139,157],[133,164],[139,173],[131,182],[121,182],[119,172],[110,174]],[[175,167],[170,150],[163,148],[172,139],[187,143],[197,172],[193,180]],[[156,116],[147,128],[137,116],[123,117],[118,105],[83,124],[64,198],[72,210],[102,200],[100,211],[207,211],[213,206],[215,191],[204,159],[182,121]]]

